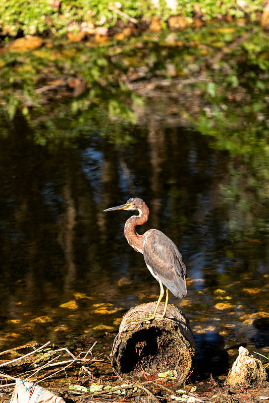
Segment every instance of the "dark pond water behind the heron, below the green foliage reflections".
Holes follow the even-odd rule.
[[[110,349],[106,337],[123,313],[157,299],[158,283],[124,238],[130,214],[103,213],[138,196],[150,210],[139,232],[165,232],[187,265],[187,296],[170,303],[190,320],[203,372],[225,373],[240,345],[265,354],[267,210],[247,191],[244,178],[255,172],[244,159],[169,125],[132,127],[128,146],[86,132],[74,147],[41,147],[20,117],[8,131],[0,140],[1,350],[96,339]]]

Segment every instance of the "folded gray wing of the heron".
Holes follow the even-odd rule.
[[[158,230],[143,235],[143,254],[152,275],[159,279],[176,297],[187,293],[186,266],[177,245]]]

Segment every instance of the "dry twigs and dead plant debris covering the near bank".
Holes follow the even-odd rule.
[[[19,396],[16,388],[23,387],[27,392],[36,388],[36,393],[50,396],[56,403],[64,401],[86,403],[89,401],[147,401],[154,403],[181,401],[183,403],[253,403],[265,401],[269,397],[269,383],[264,382],[260,387],[241,385],[239,388],[230,388],[225,383],[212,377],[208,381],[199,381],[194,385],[179,388],[171,372],[160,373],[158,379],[139,382],[125,382],[112,370],[104,376],[101,366],[109,363],[104,359],[96,358],[93,354],[96,342],[87,351],[81,351],[75,356],[67,348],[56,348],[50,342],[39,346],[31,343],[14,349],[6,350],[2,356],[19,356],[17,358],[0,361],[0,397],[3,403],[9,403],[11,395]],[[29,352],[22,354],[22,351]],[[100,365],[99,377],[91,372],[91,366]],[[5,371],[5,372],[3,372]],[[14,382],[15,381],[15,382]],[[39,384],[44,385],[45,390]],[[149,401],[148,400],[148,401]],[[39,400],[37,400],[39,401]],[[40,400],[45,401],[45,400]],[[25,399],[23,403],[26,403]]]

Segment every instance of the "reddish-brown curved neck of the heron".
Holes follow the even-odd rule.
[[[149,210],[146,205],[141,207],[141,214],[139,216],[130,217],[124,226],[124,235],[129,243],[137,252],[143,253],[143,235],[136,232],[137,225],[144,224],[149,215]],[[140,213],[140,212],[139,212]]]

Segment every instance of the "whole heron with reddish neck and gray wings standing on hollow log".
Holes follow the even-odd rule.
[[[182,255],[177,245],[162,231],[150,229],[142,235],[136,232],[136,226],[142,225],[148,220],[149,210],[144,200],[131,197],[124,205],[111,207],[104,210],[104,212],[115,210],[139,212],[138,215],[131,216],[126,221],[124,235],[129,245],[143,254],[149,272],[160,286],[155,309],[147,320],[163,319],[166,316],[170,291],[178,298],[184,297],[187,293],[186,266],[182,261]],[[166,286],[165,307],[162,315],[156,315],[158,306],[165,295],[163,285]]]

